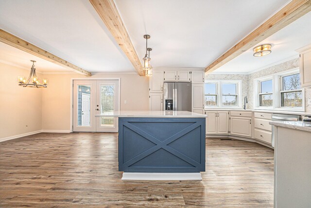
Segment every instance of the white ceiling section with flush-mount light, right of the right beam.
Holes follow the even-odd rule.
[[[216,69],[216,73],[250,73],[284,59],[299,57],[296,49],[311,44],[311,12],[295,20],[260,44],[272,44],[272,53],[254,57],[253,48]]]

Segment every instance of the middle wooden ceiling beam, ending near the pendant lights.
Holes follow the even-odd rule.
[[[140,76],[142,65],[113,0],[89,0]]]

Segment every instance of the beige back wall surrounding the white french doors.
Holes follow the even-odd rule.
[[[78,74],[44,75],[49,86],[42,94],[42,129],[70,130],[71,78]],[[95,74],[91,78],[121,78],[121,110],[148,110],[148,77],[136,74]],[[124,100],[127,104],[124,104]]]

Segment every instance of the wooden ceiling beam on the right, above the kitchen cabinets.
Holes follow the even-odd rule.
[[[223,66],[248,49],[255,47],[262,40],[275,34],[280,29],[299,19],[311,11],[311,0],[292,0],[270,19],[262,23],[252,33],[230,48],[221,57],[217,58],[205,68],[205,72],[212,72]],[[306,25],[307,26],[307,25]]]

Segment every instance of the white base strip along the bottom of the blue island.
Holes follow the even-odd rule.
[[[123,172],[122,180],[182,181],[201,180],[200,172]]]

